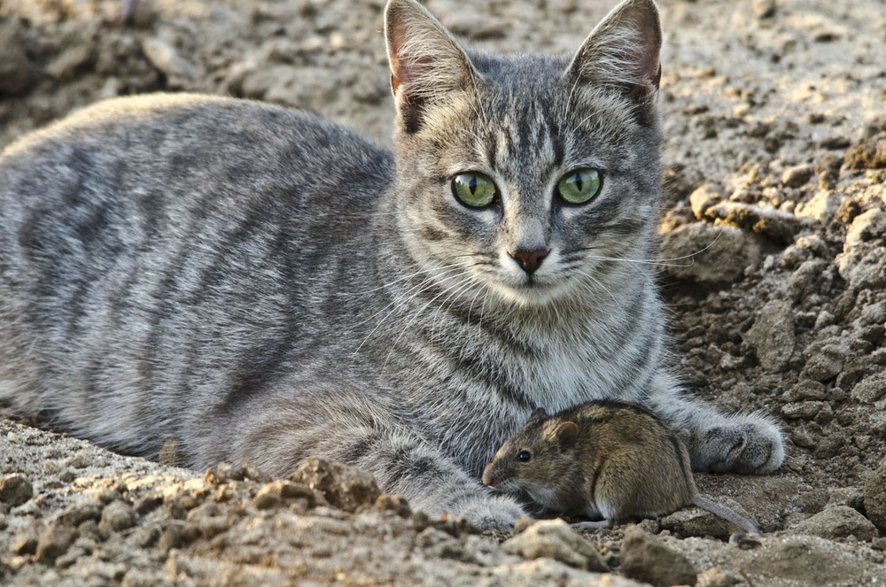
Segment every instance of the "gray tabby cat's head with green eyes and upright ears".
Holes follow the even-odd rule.
[[[410,254],[455,296],[610,295],[608,259],[644,258],[657,218],[652,0],[619,4],[571,59],[468,52],[413,0],[391,0],[385,35]]]

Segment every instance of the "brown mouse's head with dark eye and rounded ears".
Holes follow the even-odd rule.
[[[526,495],[544,504],[565,471],[574,467],[575,422],[548,416],[536,408],[523,429],[501,444],[483,471],[483,484],[505,493]]]

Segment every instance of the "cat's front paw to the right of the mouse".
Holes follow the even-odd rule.
[[[734,416],[699,431],[689,444],[692,467],[699,471],[759,475],[784,462],[781,429],[759,415]]]

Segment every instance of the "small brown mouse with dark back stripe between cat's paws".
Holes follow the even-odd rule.
[[[760,530],[727,506],[699,495],[686,446],[642,405],[592,401],[548,415],[537,408],[483,471],[483,483],[523,495],[542,512],[610,527],[698,506],[750,534]]]

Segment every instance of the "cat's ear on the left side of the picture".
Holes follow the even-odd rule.
[[[385,39],[391,62],[391,89],[407,133],[422,125],[424,113],[453,92],[473,87],[477,72],[447,29],[415,0],[390,0]]]

